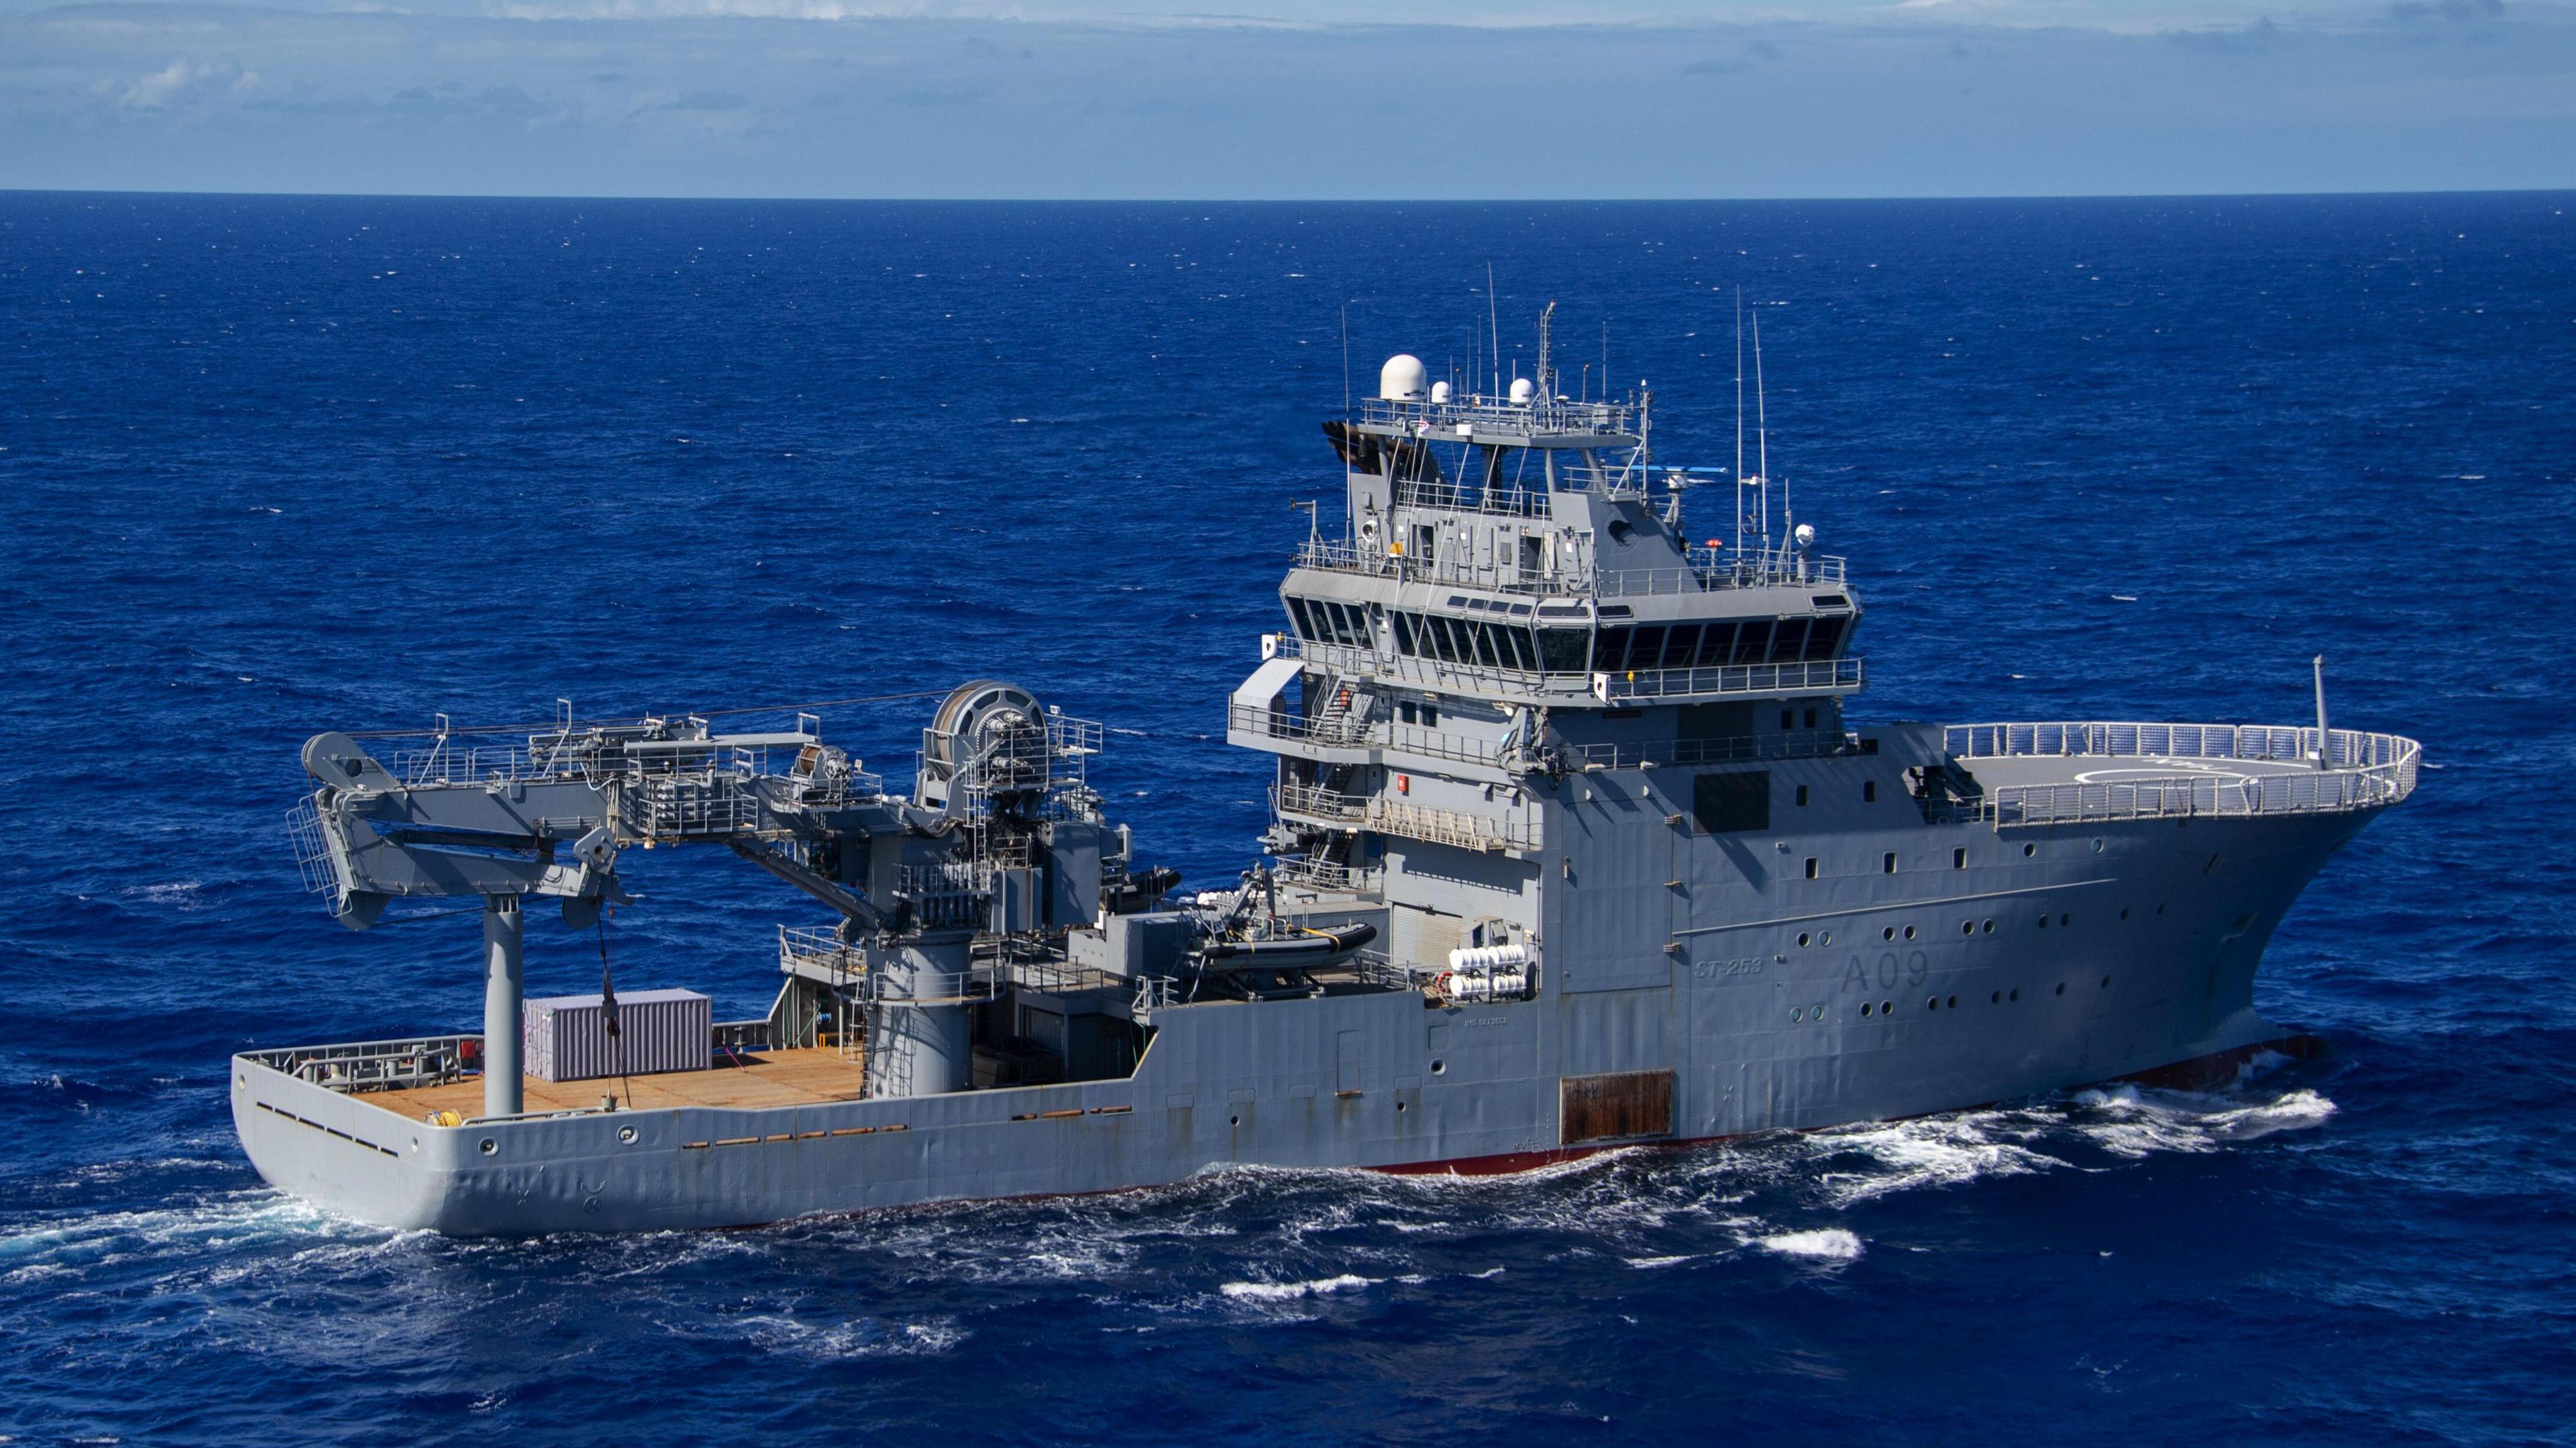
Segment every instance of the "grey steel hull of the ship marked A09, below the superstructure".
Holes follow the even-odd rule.
[[[1226,1165],[1520,1170],[1631,1141],[1927,1116],[2295,1051],[2254,1010],[2254,971],[2300,889],[2372,814],[1914,822],[1888,840],[1986,863],[1852,873],[1801,902],[1816,881],[1736,861],[1723,879],[1690,876],[1705,904],[1613,902],[1600,920],[1638,946],[1602,943],[1589,958],[1618,969],[1574,966],[1535,1000],[1157,1007],[1141,1013],[1151,1046],[1121,1080],[433,1126],[237,1056],[234,1126],[270,1185],[332,1211],[541,1234],[1100,1193]],[[1752,845],[1757,866],[1801,848]],[[1878,840],[1839,845],[1868,858]],[[1574,935],[1595,920],[1574,858],[1538,861],[1558,871],[1558,958],[1587,958]],[[1605,1080],[1654,1085],[1662,1116],[1569,1136],[1569,1092]]]

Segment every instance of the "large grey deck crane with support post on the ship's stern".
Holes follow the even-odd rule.
[[[556,899],[567,925],[590,928],[629,899],[626,845],[716,843],[840,912],[866,984],[871,1090],[943,1092],[966,1085],[979,933],[1090,925],[1103,902],[1177,879],[1128,873],[1128,835],[1084,781],[1095,752],[1097,724],[999,680],[948,693],[909,796],[824,745],[811,714],[719,734],[701,716],[592,724],[567,706],[495,747],[440,727],[394,768],[353,734],[314,734],[294,832],[307,881],[350,930],[394,899],[482,897],[484,1116],[523,1110],[523,904]]]

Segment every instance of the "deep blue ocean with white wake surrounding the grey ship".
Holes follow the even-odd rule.
[[[13,1443],[2566,1443],[2576,196],[969,206],[0,193],[0,1435]],[[1862,719],[2424,739],[2259,1002],[2331,1041],[1471,1183],[1216,1172],[448,1242],[242,1159],[224,1059],[479,1020],[350,935],[319,729],[1005,675],[1141,853],[1252,861],[1226,691],[1394,350],[1651,381],[1870,608]],[[1584,379],[1579,368],[1589,366]],[[1695,502],[1723,531],[1726,502]],[[909,773],[930,701],[835,706]],[[719,1018],[801,897],[631,855]],[[531,995],[585,989],[531,928]]]

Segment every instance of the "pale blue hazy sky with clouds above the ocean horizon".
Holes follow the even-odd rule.
[[[2566,186],[2576,5],[2537,0],[0,0],[0,188]]]

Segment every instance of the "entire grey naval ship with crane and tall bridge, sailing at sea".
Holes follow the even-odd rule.
[[[1087,783],[1103,727],[999,680],[909,786],[811,714],[314,737],[307,884],[353,930],[479,902],[482,1033],[245,1051],[245,1152],[389,1226],[631,1232],[1504,1172],[2300,1051],[2254,969],[2416,742],[2329,729],[2321,670],[2313,727],[1860,721],[1844,559],[1785,497],[1772,536],[1759,464],[1656,464],[1643,386],[1558,394],[1543,338],[1507,384],[1396,356],[1324,425],[1342,526],[1226,701],[1275,760],[1229,889],[1180,894]],[[523,1002],[538,907],[611,964],[634,845],[819,902],[765,1018],[605,969]]]

